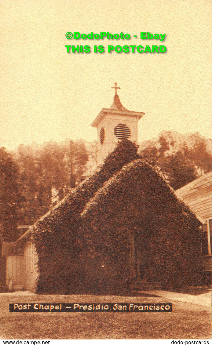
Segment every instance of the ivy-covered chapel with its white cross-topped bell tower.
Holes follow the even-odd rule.
[[[201,223],[138,155],[144,113],[124,108],[114,89],[112,106],[91,124],[100,170],[15,243],[3,243],[9,290],[86,293],[199,279]]]

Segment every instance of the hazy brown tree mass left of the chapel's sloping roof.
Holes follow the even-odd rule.
[[[20,236],[18,225],[32,225],[70,192],[70,150],[79,181],[95,145],[91,152],[82,140],[19,145],[13,152],[0,148],[0,253],[3,240]],[[0,285],[5,284],[5,263],[0,257]]]

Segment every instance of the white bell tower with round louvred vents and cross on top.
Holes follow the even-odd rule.
[[[98,134],[97,165],[103,164],[120,140],[129,139],[137,144],[138,121],[144,116],[144,112],[130,111],[123,107],[117,94],[117,89],[120,89],[117,83],[111,88],[115,89],[112,106],[103,108],[91,124],[97,128]]]

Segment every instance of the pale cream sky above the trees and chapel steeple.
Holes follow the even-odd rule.
[[[90,126],[113,102],[144,112],[138,141],[163,130],[211,137],[211,0],[2,0],[0,147],[97,139]],[[129,33],[130,40],[68,40],[66,32]],[[141,40],[140,32],[166,34]],[[137,35],[137,38],[133,36]],[[89,45],[67,53],[65,45]],[[95,53],[103,45],[104,53]],[[108,45],[165,45],[165,53],[112,53]]]

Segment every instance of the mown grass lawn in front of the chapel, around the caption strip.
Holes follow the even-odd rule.
[[[209,339],[211,313],[172,302],[171,313],[9,313],[9,303],[162,303],[161,297],[0,294],[1,339]]]

